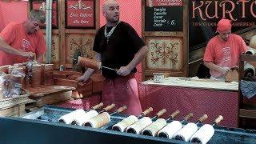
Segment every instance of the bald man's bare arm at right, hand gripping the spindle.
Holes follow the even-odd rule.
[[[117,71],[117,74],[126,76],[130,74],[130,71],[134,69],[135,66],[138,65],[139,62],[142,62],[142,59],[146,56],[149,50],[146,46],[142,46],[140,50],[135,54],[133,60],[127,66],[121,66]]]

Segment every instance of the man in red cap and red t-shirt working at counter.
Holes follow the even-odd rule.
[[[217,25],[218,35],[206,46],[204,65],[210,69],[211,78],[225,79],[230,68],[238,66],[239,54],[246,51],[246,42],[231,34],[230,20],[222,18]]]

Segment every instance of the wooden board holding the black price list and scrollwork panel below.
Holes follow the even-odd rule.
[[[142,0],[142,38],[149,49],[142,61],[142,81],[153,73],[187,76],[187,4]]]

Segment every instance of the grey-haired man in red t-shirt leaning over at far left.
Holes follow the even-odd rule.
[[[42,62],[46,41],[39,26],[45,22],[42,10],[31,10],[26,22],[10,22],[0,33],[0,66],[27,62],[34,55]]]

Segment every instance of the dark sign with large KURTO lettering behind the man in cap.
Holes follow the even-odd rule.
[[[190,0],[189,13],[190,50],[196,50],[216,35],[221,18],[230,19],[232,32],[255,26],[256,0]]]

